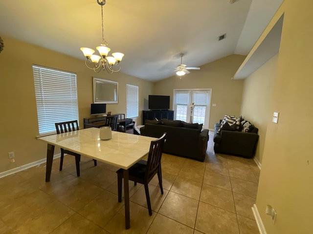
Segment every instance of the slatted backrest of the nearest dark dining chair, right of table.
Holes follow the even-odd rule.
[[[145,173],[146,178],[154,176],[160,166],[165,136],[166,133],[164,133],[162,137],[151,141]]]

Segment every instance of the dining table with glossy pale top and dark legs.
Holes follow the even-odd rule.
[[[39,139],[48,144],[46,182],[50,181],[55,146],[124,169],[125,227],[130,228],[128,169],[149,152],[156,138],[112,131],[112,139],[100,140],[98,128],[86,128]]]

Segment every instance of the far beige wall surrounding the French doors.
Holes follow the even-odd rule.
[[[155,83],[154,94],[170,95],[173,109],[174,89],[212,89],[209,128],[213,129],[225,114],[240,115],[243,80],[232,80],[237,69],[246,57],[230,55],[201,66],[201,70],[192,70],[190,74],[163,79]]]

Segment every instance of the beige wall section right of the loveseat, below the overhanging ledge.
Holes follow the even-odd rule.
[[[262,163],[264,141],[271,120],[270,101],[276,75],[278,55],[269,59],[244,82],[241,114],[259,129],[259,142],[255,158]]]

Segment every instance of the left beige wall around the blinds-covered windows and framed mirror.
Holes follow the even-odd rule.
[[[0,54],[0,172],[40,160],[46,156],[46,144],[36,139],[38,120],[32,64],[75,72],[77,74],[80,127],[83,118],[90,117],[92,76],[118,82],[119,103],[108,104],[107,111],[126,114],[126,84],[139,86],[139,119],[144,99],[153,92],[153,83],[123,73],[95,74],[84,65],[84,60],[56,53],[12,38],[3,37]],[[79,48],[77,48],[79,50]],[[122,68],[123,69],[123,68]],[[10,163],[8,152],[15,152],[15,163]]]

